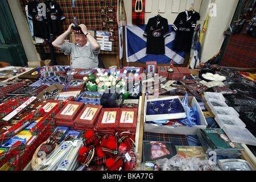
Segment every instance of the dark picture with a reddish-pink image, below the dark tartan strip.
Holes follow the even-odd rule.
[[[143,162],[170,159],[176,153],[172,142],[143,141]]]

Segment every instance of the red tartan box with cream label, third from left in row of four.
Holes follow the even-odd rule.
[[[97,131],[103,130],[117,130],[120,121],[119,108],[102,108],[101,114],[98,117],[97,124],[94,127]]]

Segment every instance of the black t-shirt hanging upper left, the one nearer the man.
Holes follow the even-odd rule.
[[[63,33],[61,21],[65,19],[59,3],[55,1],[46,2],[47,25],[50,34],[60,35]]]

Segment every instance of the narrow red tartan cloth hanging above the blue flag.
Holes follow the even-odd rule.
[[[145,24],[145,0],[142,0],[142,12],[135,12],[136,1],[133,0],[132,4],[132,23],[133,24]]]

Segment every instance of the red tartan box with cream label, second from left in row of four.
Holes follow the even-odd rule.
[[[86,104],[74,121],[75,129],[82,131],[93,129],[101,109],[100,105]]]

